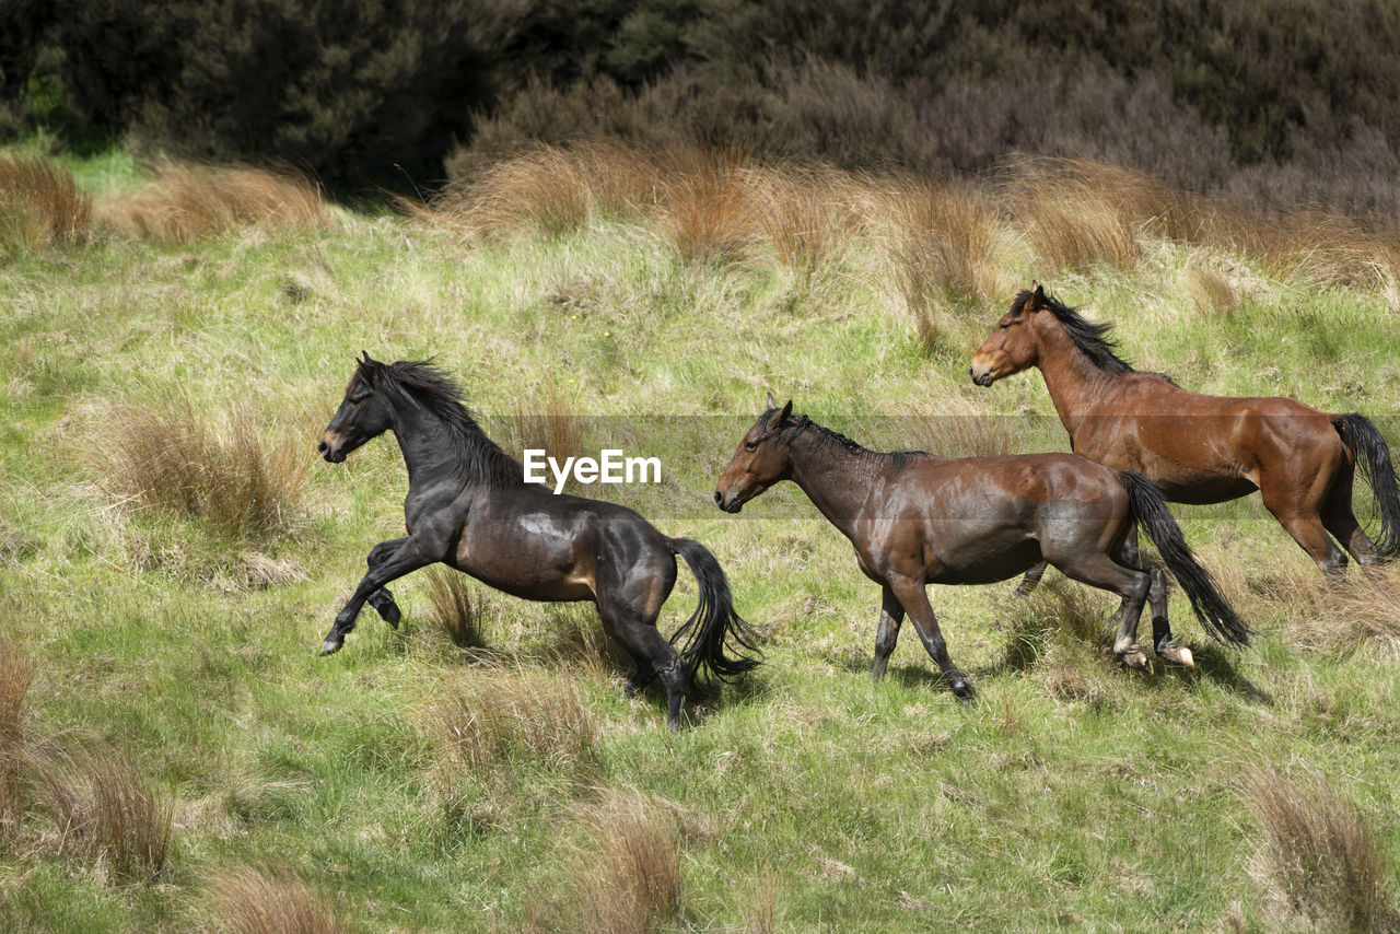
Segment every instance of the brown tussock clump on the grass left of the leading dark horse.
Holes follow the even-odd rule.
[[[105,430],[101,469],[118,496],[234,535],[293,525],[308,458],[269,441],[252,412],[238,409],[216,427],[188,403],[172,412],[122,405],[106,413]]]

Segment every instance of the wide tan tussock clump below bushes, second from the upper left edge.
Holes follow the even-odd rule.
[[[136,239],[189,244],[246,225],[312,230],[330,223],[319,188],[301,175],[162,161],[155,181],[104,200],[99,217]]]

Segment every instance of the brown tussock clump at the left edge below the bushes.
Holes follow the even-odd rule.
[[[0,155],[0,253],[81,242],[92,199],[73,172],[39,155]]]

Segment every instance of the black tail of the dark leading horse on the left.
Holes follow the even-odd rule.
[[[734,612],[729,581],[720,562],[700,542],[673,538],[671,550],[686,559],[700,585],[700,605],[690,619],[671,637],[685,640],[679,648],[686,664],[687,692],[696,696],[710,693],[713,679],[731,681],[759,665],[745,650],[757,651],[757,633]],[[732,644],[731,644],[732,643]],[[734,654],[729,655],[728,651]]]

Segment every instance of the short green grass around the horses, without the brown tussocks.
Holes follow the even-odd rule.
[[[136,172],[120,154],[77,169],[94,192]],[[1218,316],[1180,287],[1191,256],[1151,255],[1050,286],[1117,321],[1140,367],[1204,392],[1361,410],[1396,442],[1382,294],[1249,273],[1238,311]],[[1177,595],[1201,671],[1141,675],[1105,654],[1107,595],[1089,598],[1099,622],[1075,636],[1053,625],[1054,598],[1032,618],[1009,583],[934,587],[980,689],[966,706],[909,633],[890,676],[867,681],[876,588],[794,487],[741,517],[708,506],[767,389],[883,447],[911,414],[1051,412],[1037,374],[967,382],[1004,308],[949,312],[930,353],[879,269],[857,245],[813,287],[762,255],[687,265],[624,218],[463,246],[351,213],[315,234],[102,237],[6,260],[0,619],[34,661],[28,738],[118,746],[174,788],[176,811],[164,874],[129,885],[66,856],[31,800],[0,844],[0,927],[196,930],[213,924],[209,879],[274,865],[358,930],[518,930],[554,917],[596,865],[581,815],[617,787],[669,802],[679,828],[680,896],[662,930],[764,930],[769,916],[830,931],[1298,927],[1245,801],[1240,776],[1260,762],[1327,776],[1382,863],[1400,865],[1400,669],[1368,646],[1305,650],[1291,625],[1312,611],[1256,592],[1316,577],[1257,496],[1175,510],[1203,560],[1238,578],[1256,648],[1203,646]],[[622,672],[571,647],[564,633],[587,615],[475,585],[486,660],[430,627],[423,576],[395,587],[403,629],[367,612],[340,654],[318,658],[370,546],[402,534],[391,440],[337,466],[314,449],[361,349],[437,354],[498,437],[552,385],[594,420],[585,448],[637,426],[624,447],[661,456],[668,483],[606,494],[715,552],[739,611],[769,633],[767,664],[672,737],[655,690],[626,700]],[[311,463],[295,515],[242,538],[113,496],[104,416],[172,402],[210,423],[246,406],[269,440],[295,440]],[[1016,437],[1063,444],[1054,423]],[[286,574],[249,570],[265,559]],[[693,602],[682,574],[662,629]],[[536,676],[574,685],[596,762],[511,760],[494,780],[456,776],[447,801],[434,704]]]

